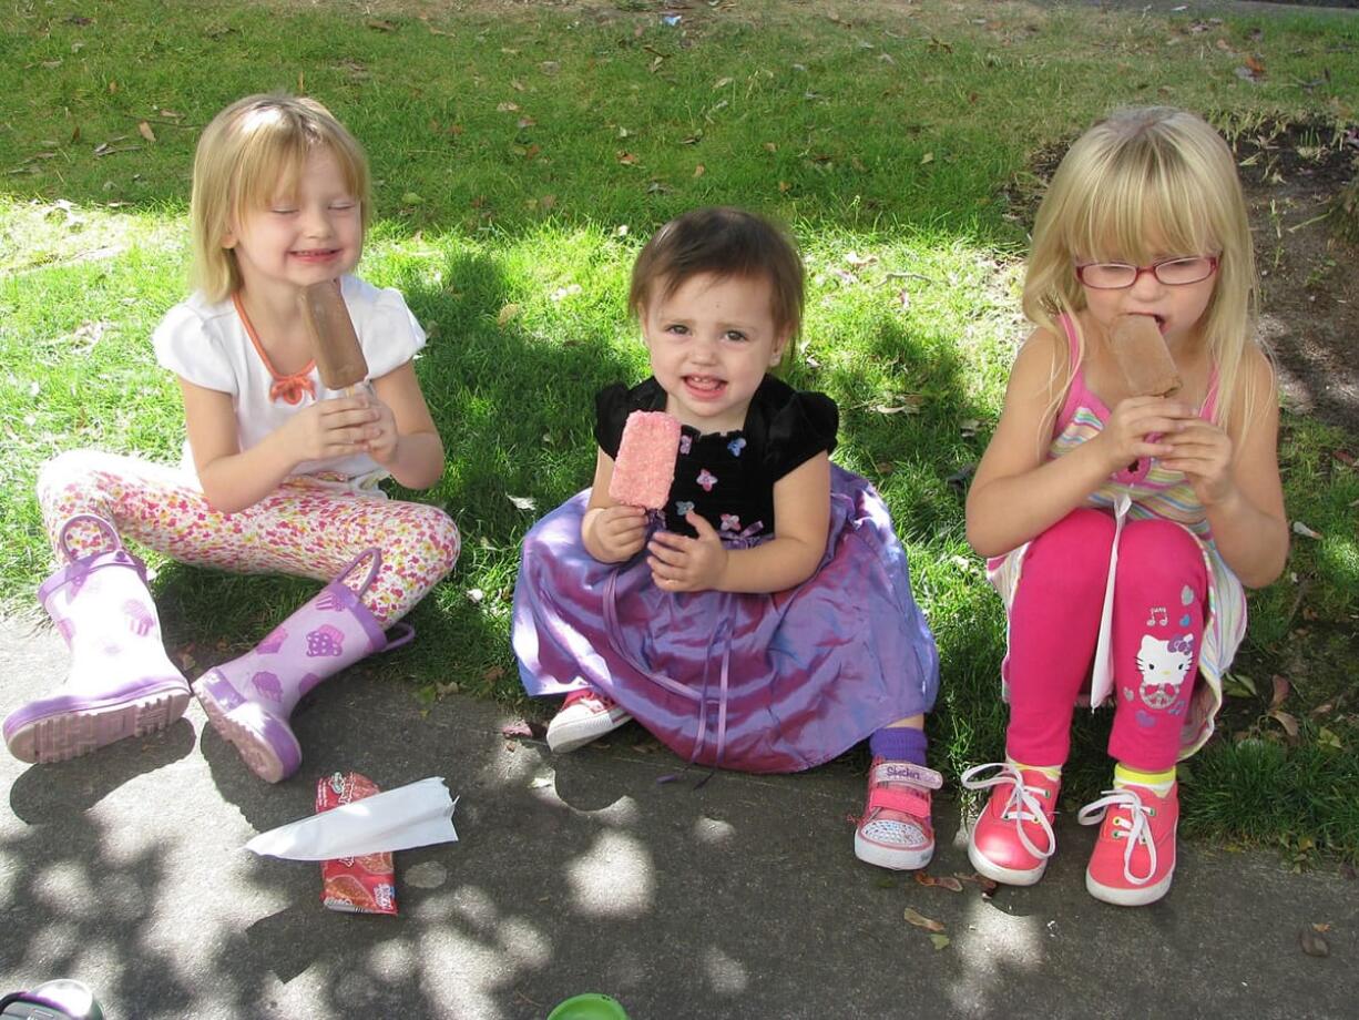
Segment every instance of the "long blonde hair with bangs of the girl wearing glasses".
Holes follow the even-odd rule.
[[[1056,336],[1065,336],[1057,320],[1070,317],[1079,363],[1084,337],[1075,313],[1086,301],[1076,261],[1144,264],[1163,254],[1219,257],[1203,336],[1218,367],[1215,416],[1226,423],[1249,378],[1243,362],[1256,347],[1258,280],[1235,159],[1203,118],[1167,106],[1118,110],[1072,144],[1038,207],[1025,316]],[[1068,359],[1052,413],[1075,371]],[[1261,396],[1253,390],[1245,393],[1248,422]]]

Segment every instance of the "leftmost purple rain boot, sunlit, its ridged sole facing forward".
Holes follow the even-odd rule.
[[[111,548],[76,559],[71,526],[90,522]],[[65,762],[124,737],[164,729],[183,715],[189,683],[160,641],[145,564],[122,548],[113,525],[76,514],[57,545],[67,566],[38,588],[38,601],[71,649],[67,683],[15,709],[4,743],[20,762]]]

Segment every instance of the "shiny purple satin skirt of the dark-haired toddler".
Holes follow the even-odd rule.
[[[681,758],[795,772],[934,707],[939,654],[906,554],[867,480],[832,465],[817,573],[776,594],[662,592],[646,554],[599,563],[588,490],[525,536],[514,650],[531,695],[588,684]]]

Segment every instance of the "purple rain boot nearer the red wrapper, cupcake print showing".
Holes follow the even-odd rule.
[[[368,577],[355,594],[344,579],[371,559]],[[208,722],[236,745],[250,771],[276,783],[302,764],[302,747],[288,717],[298,700],[326,677],[376,651],[405,645],[404,634],[387,641],[376,617],[360,601],[382,566],[378,549],[366,549],[321,593],[280,623],[251,651],[209,669],[194,683]]]

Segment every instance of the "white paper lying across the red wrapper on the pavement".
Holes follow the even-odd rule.
[[[289,861],[329,861],[453,843],[458,839],[454,806],[443,778],[431,777],[261,832],[246,850]]]

